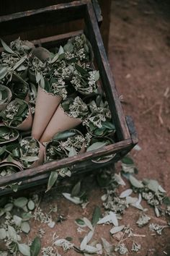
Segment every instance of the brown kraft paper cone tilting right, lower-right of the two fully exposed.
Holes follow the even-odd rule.
[[[40,142],[47,142],[52,139],[55,134],[58,132],[66,131],[67,129],[71,129],[81,124],[82,120],[79,118],[74,118],[68,116],[61,106],[58,106],[55,114],[53,115],[48,127],[46,127],[45,131],[40,138]]]

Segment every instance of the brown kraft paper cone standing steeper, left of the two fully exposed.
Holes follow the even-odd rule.
[[[32,125],[33,138],[36,140],[40,139],[61,100],[61,96],[47,93],[38,86],[35,102],[35,117]]]

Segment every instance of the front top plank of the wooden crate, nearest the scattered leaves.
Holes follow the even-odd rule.
[[[14,182],[21,182],[25,179],[31,179],[32,177],[40,176],[42,174],[49,173],[50,171],[55,171],[59,168],[63,168],[66,166],[72,166],[77,163],[84,162],[84,166],[86,166],[85,161],[89,159],[94,159],[102,155],[109,155],[111,153],[116,153],[117,151],[123,150],[125,148],[132,148],[131,139],[124,140],[122,142],[117,142],[112,145],[107,145],[97,150],[92,150],[90,152],[82,153],[80,155],[74,155],[73,157],[64,158],[60,161],[45,163],[42,166],[37,166],[35,168],[30,168],[16,174],[12,174],[9,177],[1,178],[0,186],[4,186],[6,184],[12,184]]]

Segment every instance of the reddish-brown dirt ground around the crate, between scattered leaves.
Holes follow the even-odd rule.
[[[167,1],[168,3],[168,1]],[[117,90],[122,95],[122,106],[125,114],[133,116],[138,131],[140,151],[133,150],[131,155],[138,166],[138,179],[156,179],[170,196],[170,12],[166,1],[112,1],[112,15],[109,35],[109,63],[115,77]],[[76,183],[75,178],[73,184]],[[72,184],[72,185],[73,185]],[[42,247],[53,244],[55,233],[58,238],[72,237],[79,246],[86,232],[78,233],[76,218],[91,219],[95,205],[102,208],[101,196],[104,190],[97,187],[94,176],[84,178],[84,189],[89,197],[86,209],[61,198],[58,190],[52,190],[41,197],[40,207],[43,211],[57,205],[58,212],[53,213],[54,221],[63,215],[66,221],[58,223],[53,229],[46,224],[32,221],[31,232],[27,237],[30,241],[37,235],[38,229],[44,229]],[[63,182],[61,189],[68,192],[72,186]],[[62,187],[63,186],[63,187]],[[125,189],[125,188],[122,188]],[[144,207],[148,207],[143,203]],[[148,210],[153,222],[164,224],[155,217],[153,209]],[[164,229],[161,236],[153,235],[148,227],[138,229],[138,210],[126,210],[120,224],[130,225],[135,234],[144,237],[127,239],[125,244],[128,255],[170,255],[170,229]],[[109,234],[110,226],[97,226],[94,239],[100,242],[104,237],[111,244],[115,239]],[[87,229],[85,229],[87,231]],[[133,240],[141,244],[138,253],[131,252]],[[61,251],[60,251],[61,252]],[[73,249],[61,255],[77,256]],[[104,254],[102,254],[104,255]],[[115,255],[118,255],[115,253]]]

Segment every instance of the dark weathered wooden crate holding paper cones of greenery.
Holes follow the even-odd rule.
[[[133,120],[130,116],[123,114],[115,82],[109,67],[107,55],[104,50],[102,37],[99,32],[98,21],[101,22],[99,12],[95,12],[94,6],[90,0],[72,1],[66,4],[57,4],[42,9],[34,9],[27,12],[18,12],[0,17],[0,37],[9,43],[18,38],[22,40],[32,40],[33,43],[47,48],[62,43],[71,36],[79,35],[84,31],[89,39],[94,51],[94,58],[99,69],[102,80],[102,88],[109,103],[116,128],[116,141],[112,145],[104,146],[98,150],[87,153],[81,153],[73,157],[64,158],[60,161],[45,163],[35,168],[29,168],[22,172],[12,174],[12,176],[0,179],[0,187],[6,184],[21,182],[19,189],[35,187],[38,184],[47,182],[50,171],[57,170],[66,166],[71,166],[72,173],[84,172],[90,170],[99,170],[104,166],[113,165],[126,155],[136,143],[138,137],[135,132]],[[76,31],[67,31],[66,25],[71,22],[75,25]],[[61,27],[64,24],[65,33],[60,34]],[[43,37],[40,36],[40,30],[43,26],[55,27],[55,35],[50,35],[47,30]],[[75,27],[75,26],[74,26]],[[27,33],[25,33],[27,31]],[[106,163],[93,163],[91,160],[102,155],[115,154],[111,161]],[[11,193],[11,189],[1,189],[0,195]]]

